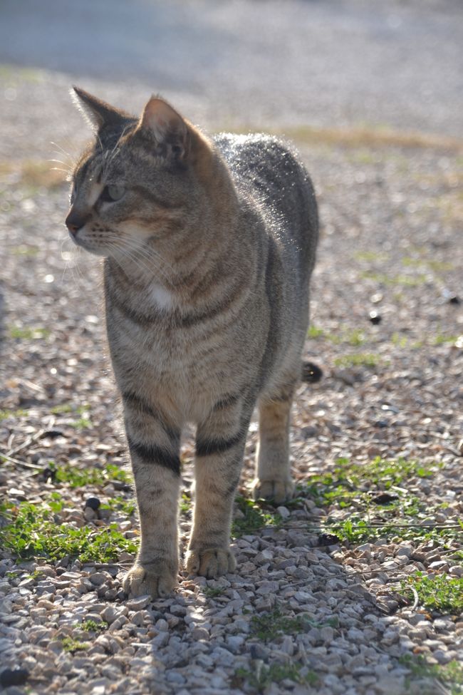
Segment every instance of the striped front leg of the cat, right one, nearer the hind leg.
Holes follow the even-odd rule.
[[[220,401],[198,426],[193,530],[186,557],[191,574],[212,578],[236,567],[229,543],[249,426],[249,416],[243,411],[242,403]]]

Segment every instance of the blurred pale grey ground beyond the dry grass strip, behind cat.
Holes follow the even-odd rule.
[[[0,153],[72,140],[71,83],[135,112],[159,92],[213,130],[459,136],[462,19],[460,0],[2,0]]]

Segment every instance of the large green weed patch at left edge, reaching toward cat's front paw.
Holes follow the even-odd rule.
[[[0,545],[15,557],[24,559],[46,557],[61,560],[76,558],[80,562],[114,562],[120,552],[135,553],[137,543],[118,531],[116,524],[95,530],[84,526],[76,528],[58,524],[55,514],[63,504],[56,496],[40,505],[21,502],[14,506],[0,506],[0,515],[6,524],[0,528]]]

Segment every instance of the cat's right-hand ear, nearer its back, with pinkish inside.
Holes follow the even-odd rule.
[[[166,101],[152,96],[138,128],[150,131],[165,158],[184,162],[189,153],[189,129],[182,116]]]

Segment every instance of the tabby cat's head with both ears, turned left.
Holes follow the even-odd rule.
[[[105,257],[135,257],[147,242],[182,244],[201,207],[207,140],[175,109],[150,98],[140,118],[74,88],[95,143],[73,173],[66,227],[76,244]]]

